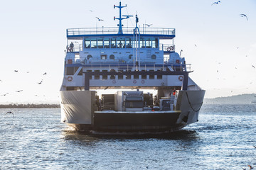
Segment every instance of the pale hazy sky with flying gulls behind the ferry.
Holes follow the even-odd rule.
[[[140,26],[176,28],[176,52],[183,50],[206,98],[256,93],[256,0],[213,2],[125,0],[122,14],[137,12]],[[114,4],[119,1],[1,1],[0,95],[9,94],[0,103],[58,101],[66,28],[94,28],[96,16],[104,20],[98,27],[117,26]],[[134,26],[134,18],[123,24]]]

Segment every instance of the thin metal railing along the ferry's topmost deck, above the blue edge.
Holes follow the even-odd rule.
[[[102,27],[102,28],[68,28],[67,36],[72,35],[102,35],[102,34],[117,34],[119,28]],[[133,34],[134,28],[122,28],[123,34]],[[175,35],[175,28],[146,28],[141,31],[141,34],[154,35]]]

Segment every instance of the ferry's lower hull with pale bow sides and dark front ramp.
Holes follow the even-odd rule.
[[[95,91],[61,91],[61,120],[78,131],[173,132],[198,121],[205,91],[179,91],[176,111],[97,111]]]

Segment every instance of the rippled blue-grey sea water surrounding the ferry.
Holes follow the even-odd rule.
[[[198,123],[168,135],[82,134],[60,123],[60,108],[10,108],[0,113],[0,169],[256,166],[256,104],[204,104]]]

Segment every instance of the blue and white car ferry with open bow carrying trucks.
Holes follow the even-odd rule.
[[[139,26],[122,15],[115,28],[66,30],[61,122],[87,132],[172,132],[198,122],[205,90],[176,52],[174,28]],[[135,19],[134,28],[122,20]]]

